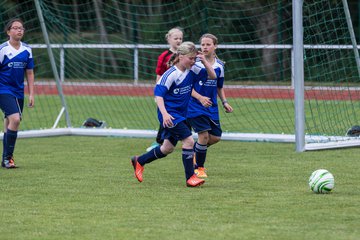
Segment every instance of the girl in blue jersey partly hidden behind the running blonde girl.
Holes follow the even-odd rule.
[[[216,72],[216,78],[203,78],[194,83],[194,90],[189,102],[187,118],[191,127],[198,134],[195,143],[195,173],[198,177],[207,177],[204,163],[206,160],[207,148],[220,141],[222,130],[219,121],[219,109],[217,96],[219,96],[225,112],[230,113],[233,108],[226,100],[224,92],[224,63],[220,61],[215,53],[218,40],[213,34],[204,34],[200,38],[201,51],[206,60]],[[195,66],[204,68],[201,62]]]

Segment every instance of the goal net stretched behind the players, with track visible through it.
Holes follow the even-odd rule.
[[[154,137],[157,57],[179,26],[186,41],[198,44],[207,32],[219,39],[234,108],[220,113],[223,139],[294,142],[292,7],[291,0],[5,1],[1,21],[24,20],[36,64],[36,107],[24,111],[23,134]],[[344,5],[304,1],[303,24],[305,141],[352,141],[345,135],[360,124],[359,72]],[[90,117],[106,127],[84,128]]]

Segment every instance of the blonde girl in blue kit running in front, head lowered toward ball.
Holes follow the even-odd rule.
[[[194,82],[205,75],[215,78],[216,74],[204,55],[197,53],[194,43],[182,43],[170,59],[172,67],[161,76],[155,86],[158,119],[164,126],[164,142],[141,156],[131,158],[135,177],[139,182],[143,181],[145,164],[166,157],[174,151],[177,142],[181,141],[186,185],[197,187],[204,183],[203,179],[194,174],[194,139],[186,124],[186,112]],[[196,57],[201,60],[204,68],[194,65]]]

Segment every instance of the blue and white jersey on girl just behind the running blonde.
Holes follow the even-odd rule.
[[[196,62],[196,66],[204,69],[201,62]],[[204,107],[201,102],[193,97],[190,98],[187,118],[194,118],[201,115],[208,116],[210,119],[219,120],[219,109],[217,104],[217,89],[224,85],[224,63],[215,58],[215,63],[212,66],[215,70],[216,79],[208,79],[207,72],[205,76],[194,83],[194,90],[202,96],[209,97],[212,106]]]

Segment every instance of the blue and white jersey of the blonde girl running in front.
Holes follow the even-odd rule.
[[[186,119],[193,84],[205,74],[207,74],[206,69],[196,65],[184,72],[173,66],[157,82],[154,94],[164,99],[166,111],[175,118],[174,124]],[[158,119],[162,123],[162,114],[159,109],[157,112]]]

